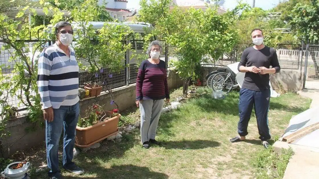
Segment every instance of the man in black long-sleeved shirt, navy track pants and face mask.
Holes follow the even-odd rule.
[[[238,71],[246,72],[239,96],[238,134],[231,142],[245,140],[251,111],[255,106],[259,139],[265,148],[269,147],[271,138],[268,128],[268,109],[270,100],[269,74],[280,71],[276,50],[263,44],[263,31],[251,32],[252,47],[245,49],[238,64]],[[271,68],[270,68],[271,66]]]

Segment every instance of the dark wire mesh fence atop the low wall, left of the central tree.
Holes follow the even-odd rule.
[[[34,48],[34,45],[39,42],[36,40],[32,41],[25,41],[26,48],[28,50],[32,50]],[[53,44],[53,42],[50,43],[44,43],[44,46],[48,46],[49,44]],[[73,42],[71,46],[74,47],[76,42]],[[143,40],[127,40],[123,41],[123,43],[131,43],[131,50],[127,51],[125,55],[123,55],[123,68],[119,72],[112,72],[110,68],[104,68],[101,69],[99,73],[90,73],[88,72],[89,68],[89,62],[85,61],[85,59],[77,59],[78,63],[80,64],[80,70],[79,70],[79,85],[80,87],[83,87],[85,83],[91,82],[91,83],[97,83],[100,86],[103,86],[103,90],[107,90],[106,84],[109,85],[111,88],[121,87],[125,85],[129,85],[136,82],[137,78],[137,72],[139,68],[139,64],[142,60],[146,59],[147,56],[145,55],[144,50],[144,44],[145,41]],[[165,48],[165,41],[160,41],[162,45],[162,53],[160,56],[161,60],[166,61],[166,55],[168,54],[168,48]],[[16,58],[14,49],[10,48],[8,50],[4,50],[3,46],[6,45],[3,42],[0,42],[0,65],[2,66],[2,72],[1,72],[1,81],[0,85],[8,82],[8,80],[11,80],[11,78],[15,75],[14,71],[14,65],[15,61],[20,61],[19,58]],[[25,49],[26,53],[29,53],[29,57],[32,57],[33,54],[28,52],[28,50]],[[39,55],[40,52],[36,53],[36,56]],[[144,54],[144,56],[143,56]],[[141,55],[138,57],[138,55]],[[15,60],[12,60],[12,58],[15,58]],[[38,58],[38,57],[36,57]],[[30,92],[31,94],[35,94],[34,92]],[[22,95],[19,95],[22,94]],[[26,99],[24,97],[24,92],[18,91],[16,94],[8,94],[7,92],[3,92],[1,97],[4,97],[8,95],[8,98],[6,99],[8,104],[12,107],[17,107],[19,110],[23,110],[26,108],[26,105],[21,103],[21,100],[23,102],[26,102]],[[19,96],[23,96],[22,99],[19,99]]]

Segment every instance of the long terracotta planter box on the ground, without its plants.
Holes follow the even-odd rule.
[[[107,113],[111,113],[107,111]],[[75,145],[77,147],[89,147],[96,142],[102,141],[109,136],[112,136],[118,132],[117,126],[121,114],[99,122],[90,127],[78,127],[76,128]]]

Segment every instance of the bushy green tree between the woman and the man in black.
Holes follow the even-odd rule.
[[[237,41],[236,32],[230,29],[234,14],[217,14],[211,6],[205,12],[190,8],[170,8],[169,0],[141,0],[139,21],[155,26],[152,33],[176,47],[178,60],[171,61],[184,80],[183,94],[187,95],[190,79],[198,78],[195,72],[202,61],[217,60],[223,52],[232,50]]]

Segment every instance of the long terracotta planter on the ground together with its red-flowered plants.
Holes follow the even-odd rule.
[[[85,110],[87,117],[78,119],[75,145],[88,147],[118,132],[117,126],[121,114],[118,109],[104,111],[100,105],[93,105]]]

